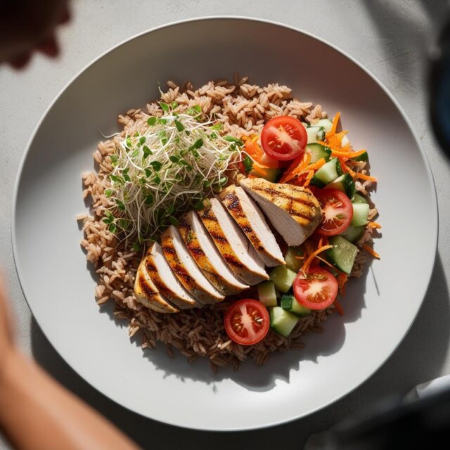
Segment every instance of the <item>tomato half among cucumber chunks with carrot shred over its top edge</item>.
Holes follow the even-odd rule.
[[[304,307],[325,309],[336,300],[337,295],[338,280],[322,267],[310,267],[306,275],[300,271],[295,278],[294,296]]]

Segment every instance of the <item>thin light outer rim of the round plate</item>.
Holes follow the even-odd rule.
[[[349,387],[349,389],[340,393],[337,397],[334,397],[330,401],[321,404],[321,406],[317,406],[316,408],[311,409],[310,411],[307,411],[305,413],[300,413],[300,414],[290,417],[290,418],[285,418],[285,419],[281,419],[281,420],[271,420],[269,423],[264,423],[262,425],[255,425],[255,426],[250,426],[250,427],[249,426],[233,427],[233,428],[207,428],[207,427],[201,427],[201,426],[192,427],[192,426],[181,425],[179,423],[172,423],[169,420],[161,420],[161,419],[153,418],[153,417],[148,416],[145,413],[135,411],[134,409],[131,409],[131,407],[129,407],[125,404],[122,404],[120,401],[116,400],[111,394],[109,394],[109,393],[107,394],[107,393],[103,392],[103,390],[101,389],[101,386],[98,386],[98,385],[92,383],[88,378],[86,378],[84,376],[84,372],[77,371],[77,369],[75,369],[75,367],[71,364],[70,357],[64,356],[63,352],[58,349],[58,345],[49,339],[48,335],[46,334],[46,331],[44,330],[44,328],[41,327],[41,324],[37,320],[37,317],[34,315],[32,305],[28,301],[27,295],[25,295],[25,289],[23,287],[23,281],[22,281],[23,272],[20,270],[20,261],[19,261],[18,249],[17,249],[17,236],[15,233],[15,224],[16,224],[15,216],[17,213],[17,198],[18,198],[20,181],[22,180],[23,167],[25,165],[25,161],[27,160],[28,153],[30,153],[30,148],[32,146],[32,143],[34,141],[34,138],[35,138],[37,132],[39,131],[39,129],[41,127],[42,122],[44,122],[46,116],[49,114],[50,110],[53,108],[53,105],[55,105],[55,103],[59,100],[60,96],[62,96],[64,94],[66,89],[68,89],[68,87],[73,82],[75,82],[75,80],[78,77],[80,77],[86,70],[88,70],[89,68],[91,68],[92,65],[97,63],[98,60],[101,60],[102,58],[107,56],[109,53],[114,51],[115,49],[119,48],[120,46],[122,46],[124,44],[128,44],[129,42],[133,41],[134,39],[139,39],[143,35],[150,34],[151,32],[162,30],[164,28],[174,27],[177,25],[185,24],[185,23],[194,23],[194,22],[212,21],[212,20],[243,20],[243,21],[249,21],[249,22],[263,23],[266,25],[275,25],[276,27],[283,27],[287,30],[295,31],[300,34],[304,34],[305,36],[311,37],[312,39],[315,39],[316,41],[321,42],[321,44],[325,44],[326,46],[329,46],[333,50],[338,51],[338,53],[340,53],[342,56],[345,56],[345,58],[352,61],[352,63],[354,63],[358,68],[363,70],[369,77],[371,77],[371,79],[375,82],[375,84],[377,84],[378,86],[380,86],[381,89],[383,89],[383,91],[388,96],[390,101],[392,101],[392,103],[394,104],[395,108],[397,108],[397,110],[401,114],[401,117],[403,118],[403,120],[405,121],[406,125],[409,128],[411,136],[413,136],[413,139],[416,142],[416,146],[419,149],[420,155],[422,155],[423,161],[425,162],[426,174],[428,175],[428,177],[427,177],[428,184],[430,184],[430,188],[431,188],[430,191],[432,192],[432,198],[433,198],[432,209],[434,212],[433,217],[435,217],[435,227],[434,227],[435,229],[434,229],[433,235],[431,236],[432,239],[430,239],[430,242],[432,242],[432,244],[433,244],[432,247],[434,248],[434,258],[433,258],[432,264],[430,264],[430,269],[428,270],[428,273],[427,273],[428,282],[425,285],[425,289],[423,290],[423,293],[421,293],[422,300],[420,301],[420,306],[418,307],[416,314],[413,317],[413,320],[409,324],[409,327],[407,328],[406,332],[402,336],[401,340],[399,340],[397,345],[392,349],[392,352],[390,352],[389,354],[387,354],[385,356],[385,358],[383,359],[380,366],[378,366],[378,368],[375,371],[373,371],[373,373],[371,373],[371,375],[368,375],[368,377],[364,378],[363,380],[360,380],[359,383],[356,383],[352,387]],[[375,375],[375,373],[377,373],[380,370],[380,368],[382,368],[386,364],[386,362],[391,358],[391,356],[397,351],[398,347],[401,345],[401,343],[406,338],[406,335],[409,334],[409,331],[411,330],[413,323],[415,323],[415,321],[417,319],[420,309],[422,309],[423,301],[425,300],[425,296],[427,295],[428,289],[430,288],[430,281],[432,278],[432,273],[435,269],[435,264],[436,264],[436,259],[437,259],[438,236],[439,236],[439,210],[438,210],[438,203],[437,203],[437,191],[436,191],[435,180],[434,180],[432,170],[430,167],[430,161],[428,160],[427,153],[423,149],[423,146],[421,145],[421,143],[418,139],[416,131],[413,129],[413,124],[411,123],[411,120],[409,120],[409,117],[406,115],[406,113],[405,113],[404,109],[402,108],[402,106],[400,105],[399,101],[397,101],[397,98],[395,98],[394,95],[389,91],[389,89],[387,89],[387,87],[383,84],[383,82],[381,82],[377,77],[375,77],[375,75],[373,75],[373,73],[370,70],[368,70],[366,67],[364,67],[364,65],[362,63],[359,63],[359,61],[356,60],[356,58],[351,56],[349,53],[347,53],[347,51],[340,49],[338,46],[336,46],[335,44],[332,44],[327,39],[318,37],[316,34],[313,34],[311,32],[304,31],[300,27],[295,27],[293,25],[286,25],[284,23],[277,22],[276,20],[269,20],[269,19],[265,19],[265,18],[257,18],[257,17],[245,16],[245,15],[207,15],[207,16],[187,18],[187,19],[182,19],[182,20],[175,20],[173,22],[158,25],[156,27],[149,28],[148,30],[144,30],[143,32],[139,32],[138,34],[134,34],[131,37],[127,37],[126,39],[123,39],[122,41],[111,46],[107,50],[103,51],[103,53],[101,53],[99,56],[97,56],[96,58],[91,60],[89,63],[84,65],[84,67],[81,70],[79,70],[74,76],[72,76],[70,78],[70,80],[63,86],[63,88],[60,89],[60,91],[53,98],[53,100],[51,101],[49,106],[44,110],[44,113],[42,113],[36,126],[34,127],[32,134],[30,136],[30,139],[27,141],[25,151],[23,152],[23,155],[20,158],[20,163],[18,165],[18,171],[15,176],[14,187],[13,187],[12,209],[11,209],[11,242],[12,242],[12,248],[13,248],[13,261],[14,261],[15,271],[18,276],[20,290],[22,290],[23,297],[25,298],[25,302],[27,302],[27,306],[30,309],[30,312],[32,313],[32,317],[33,317],[34,321],[36,321],[37,325],[39,326],[39,329],[44,334],[46,340],[48,340],[51,347],[56,351],[58,356],[60,356],[60,358],[63,359],[63,361],[65,362],[65,364],[68,364],[68,366],[70,366],[70,368],[72,368],[72,370],[75,371],[75,373],[77,373],[77,375],[79,375],[84,380],[84,382],[86,382],[89,386],[93,387],[97,392],[100,392],[102,395],[107,397],[110,401],[113,401],[115,404],[121,406],[122,408],[126,409],[127,411],[131,411],[132,413],[139,414],[139,416],[142,416],[143,418],[146,418],[146,419],[155,420],[158,423],[164,423],[165,425],[176,426],[179,428],[184,428],[186,430],[199,430],[199,431],[236,432],[236,431],[245,431],[245,430],[262,430],[264,428],[271,428],[276,425],[290,423],[290,422],[293,422],[294,420],[299,420],[301,418],[311,416],[311,414],[316,413],[317,411],[321,411],[323,409],[328,408],[328,406],[335,404],[337,401],[343,399],[344,397],[347,397],[348,394],[354,392],[361,385],[363,385],[368,380],[370,380],[373,377],[373,375]],[[89,403],[89,406],[91,406],[90,403]]]

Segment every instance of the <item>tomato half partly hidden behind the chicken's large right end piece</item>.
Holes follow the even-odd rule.
[[[322,223],[317,233],[335,236],[345,231],[353,219],[353,205],[347,195],[338,189],[317,189],[316,197],[322,208]]]

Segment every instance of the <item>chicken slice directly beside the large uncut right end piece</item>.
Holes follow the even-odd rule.
[[[232,184],[219,194],[219,198],[255,247],[264,264],[269,267],[285,264],[274,233],[271,232],[262,212],[243,188]]]

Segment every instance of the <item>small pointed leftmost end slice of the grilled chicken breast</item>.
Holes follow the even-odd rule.
[[[180,311],[178,308],[174,307],[174,305],[171,304],[155,286],[148,275],[145,259],[141,261],[136,272],[134,293],[136,295],[136,300],[139,303],[143,304],[144,307],[153,309],[153,311],[164,313],[175,313]]]

